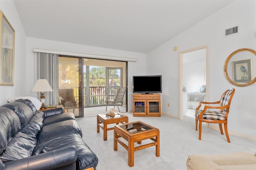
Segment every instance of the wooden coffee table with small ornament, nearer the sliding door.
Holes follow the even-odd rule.
[[[100,128],[103,129],[103,140],[107,140],[108,130],[113,130],[114,127],[108,128],[109,124],[116,123],[128,123],[128,116],[115,112],[115,116],[111,117],[109,113],[103,113],[97,115],[97,132],[100,132]],[[103,124],[103,125],[102,125]]]

